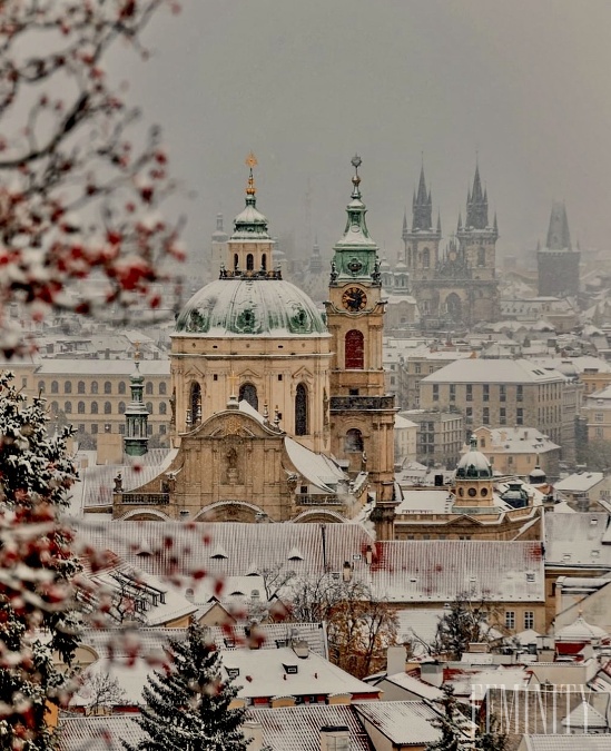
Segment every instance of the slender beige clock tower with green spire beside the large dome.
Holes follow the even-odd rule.
[[[368,482],[375,501],[372,518],[380,540],[393,537],[394,396],[384,388],[384,305],[377,246],[365,223],[358,168],[347,221],[331,263],[327,326],[333,337],[329,378],[332,452],[354,482]]]

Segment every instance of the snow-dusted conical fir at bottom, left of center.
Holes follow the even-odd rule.
[[[136,722],[146,738],[127,751],[245,751],[244,709],[229,709],[237,694],[223,681],[220,655],[191,625],[185,641],[170,641],[167,671],[148,676],[144,706]]]

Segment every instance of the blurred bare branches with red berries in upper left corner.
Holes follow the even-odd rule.
[[[160,130],[146,131],[111,56],[146,57],[142,30],[174,0],[0,3],[0,349],[27,349],[11,305],[101,314],[161,305],[154,283],[179,259],[180,223]],[[166,264],[167,270],[167,264]],[[91,283],[91,284],[88,284]],[[95,283],[95,284],[93,284]]]

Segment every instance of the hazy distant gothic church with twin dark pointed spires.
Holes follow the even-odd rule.
[[[404,263],[424,329],[471,327],[499,319],[496,280],[496,216],[489,223],[487,191],[482,189],[480,168],[467,191],[466,215],[442,251],[441,219],[433,227],[433,202],[421,169],[412,201],[412,226],[403,220]]]

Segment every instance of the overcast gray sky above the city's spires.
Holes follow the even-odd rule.
[[[544,240],[564,199],[573,243],[608,247],[611,185],[609,0],[184,0],[130,59],[132,99],[166,131],[191,258],[215,215],[243,206],[253,150],[274,234],[312,234],[325,255],[344,228],[349,159],[363,158],[369,230],[401,248],[421,152],[443,234],[463,211],[475,154],[497,211],[500,253]]]

